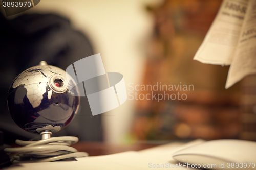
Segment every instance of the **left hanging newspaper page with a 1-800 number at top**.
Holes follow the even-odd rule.
[[[224,0],[194,60],[230,65],[236,49],[248,0]]]

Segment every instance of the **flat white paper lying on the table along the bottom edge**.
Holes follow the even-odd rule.
[[[10,170],[84,170],[84,169],[104,169],[104,170],[131,170],[131,169],[170,169],[172,164],[179,164],[176,162],[172,154],[180,149],[189,147],[194,144],[202,143],[203,140],[195,140],[189,143],[169,143],[159,147],[146,149],[142,151],[128,151],[118,154],[105,156],[92,156],[85,158],[77,158],[77,161],[69,162],[44,162],[44,163],[25,163],[16,167],[10,167]],[[154,168],[153,165],[163,165],[162,168]],[[151,167],[152,166],[152,167]],[[184,167],[184,169],[187,169]],[[193,168],[195,169],[195,168]]]

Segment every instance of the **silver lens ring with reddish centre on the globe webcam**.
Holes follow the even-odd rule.
[[[68,89],[68,84],[65,77],[54,75],[50,78],[49,87],[56,93],[64,93]]]

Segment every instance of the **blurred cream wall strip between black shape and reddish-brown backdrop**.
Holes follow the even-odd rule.
[[[55,12],[71,19],[73,26],[85,31],[100,53],[106,72],[120,72],[126,88],[137,84],[143,74],[145,45],[151,35],[153,18],[145,11],[154,0],[42,0],[29,12]],[[103,113],[104,139],[121,143],[129,131],[134,102]]]

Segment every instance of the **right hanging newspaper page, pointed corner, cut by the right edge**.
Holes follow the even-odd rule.
[[[254,73],[256,73],[256,0],[250,0],[225,88]]]

